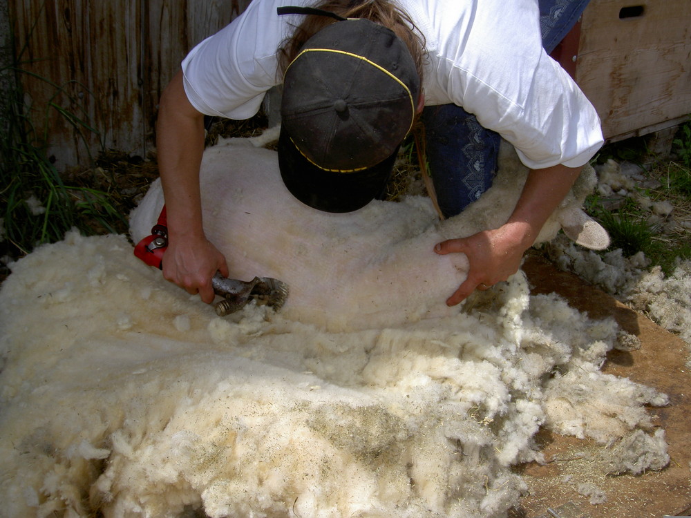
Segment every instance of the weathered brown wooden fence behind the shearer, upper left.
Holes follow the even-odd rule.
[[[184,55],[248,4],[10,0],[23,88],[39,126],[48,114],[58,168],[88,160],[100,146],[146,155],[158,99]]]

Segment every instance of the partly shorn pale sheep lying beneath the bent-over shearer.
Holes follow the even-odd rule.
[[[444,300],[466,278],[468,263],[463,254],[437,256],[434,245],[500,226],[527,174],[505,146],[493,187],[448,220],[439,222],[430,200],[422,197],[375,200],[357,213],[331,214],[295,200],[281,182],[276,153],[251,144],[228,140],[204,155],[200,184],[207,237],[225,254],[231,277],[287,282],[291,292],[283,311],[332,330],[452,314]],[[606,231],[580,209],[594,178],[587,166],[536,243],[564,229],[591,249],[608,246]],[[163,203],[156,182],[131,216],[135,242],[149,235]]]

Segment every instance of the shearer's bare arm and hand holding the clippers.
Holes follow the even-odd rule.
[[[216,270],[227,276],[228,267],[202,227],[199,168],[204,151],[204,116],[189,103],[181,71],[161,97],[156,129],[169,234],[163,276],[191,294],[198,292],[204,302],[211,303],[211,277]]]

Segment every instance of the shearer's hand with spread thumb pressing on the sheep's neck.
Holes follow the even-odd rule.
[[[515,274],[524,251],[530,246],[526,242],[524,229],[506,224],[499,229],[485,230],[467,238],[437,244],[435,252],[440,255],[464,253],[468,258],[468,276],[446,300],[446,305],[457,305],[475,289],[485,291]]]

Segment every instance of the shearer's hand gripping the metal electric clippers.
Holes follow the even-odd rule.
[[[223,253],[204,236],[169,241],[163,254],[163,277],[189,294],[198,293],[207,304],[214,301],[211,277],[216,271],[224,277],[229,275]]]

